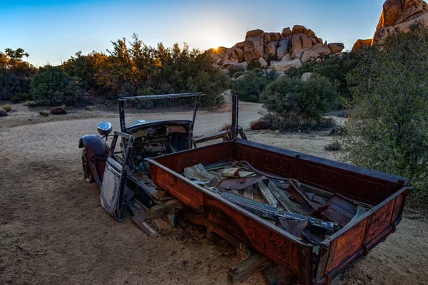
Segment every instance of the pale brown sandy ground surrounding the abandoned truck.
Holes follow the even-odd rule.
[[[261,106],[240,105],[248,128]],[[99,190],[83,181],[78,139],[96,133],[116,112],[71,109],[41,118],[38,109],[14,105],[0,118],[0,284],[225,284],[239,260],[227,244],[171,228],[146,237],[133,222],[115,222],[100,207]],[[219,130],[225,110],[198,113],[195,133]],[[191,118],[189,110],[153,110],[127,117]],[[323,147],[326,132],[276,134],[248,131],[248,138],[335,159]],[[405,214],[397,232],[348,269],[341,284],[428,284],[428,219]],[[263,284],[260,274],[243,284]]]

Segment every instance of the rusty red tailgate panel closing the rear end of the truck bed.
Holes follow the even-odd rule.
[[[404,199],[409,190],[409,187],[403,187],[348,227],[326,239],[320,249],[315,284],[330,283],[336,274],[392,234],[402,218]]]

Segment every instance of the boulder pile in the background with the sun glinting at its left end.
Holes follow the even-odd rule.
[[[282,33],[248,31],[245,41],[232,48],[211,48],[205,53],[213,57],[219,68],[246,68],[248,63],[259,61],[263,68],[287,71],[292,67],[299,68],[306,61],[321,62],[326,56],[340,54],[343,48],[343,43],[323,43],[314,31],[296,25],[284,28]]]

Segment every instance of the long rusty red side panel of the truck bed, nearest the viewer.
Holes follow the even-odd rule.
[[[300,276],[300,284],[312,284],[311,244],[276,228],[218,194],[193,185],[184,177],[165,169],[159,160],[163,160],[163,157],[158,157],[156,162],[151,162],[151,175],[156,185],[188,207],[203,214],[205,219],[233,235],[240,242],[264,254],[272,261],[295,271]],[[180,163],[183,162],[185,160],[180,160]],[[191,163],[200,163],[200,161]],[[175,165],[177,169],[186,166],[188,165]]]

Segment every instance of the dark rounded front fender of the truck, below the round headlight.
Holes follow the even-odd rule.
[[[98,135],[84,135],[79,140],[78,147],[86,150],[89,168],[95,178],[96,184],[98,184],[98,187],[101,187],[110,147]]]

